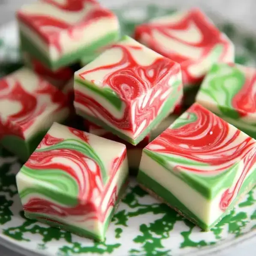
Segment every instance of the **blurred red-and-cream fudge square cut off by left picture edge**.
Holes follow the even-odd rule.
[[[32,75],[34,83],[42,83],[41,94],[38,92],[40,90],[40,84],[37,84],[36,87],[27,84],[30,75]],[[23,79],[22,76],[24,76],[25,79]],[[9,127],[6,132],[1,134],[0,144],[12,153],[17,154],[22,161],[26,161],[42,140],[43,136],[47,133],[51,124],[54,121],[64,122],[69,117],[70,108],[67,104],[67,98],[60,90],[54,87],[54,85],[24,66],[9,75],[2,77],[0,79],[0,82],[1,81],[6,83],[7,86],[6,88],[3,87],[3,91],[9,91],[4,94],[5,97],[2,97],[0,101],[12,100],[15,104],[20,103],[21,107],[23,107],[22,104],[24,103],[24,100],[21,98],[13,98],[13,95],[11,99],[9,99],[10,93],[13,93],[14,90],[19,91],[21,89],[27,96],[36,99],[36,102],[34,102],[36,105],[33,109],[31,109],[31,105],[27,105],[28,111],[31,112],[29,115],[24,112],[21,117],[15,117],[15,115],[21,112],[21,110],[18,109],[13,113],[12,111],[6,111],[5,113],[4,109],[2,110],[2,113],[0,111],[0,116],[3,115],[1,118],[2,125],[5,127],[3,129]],[[24,84],[26,84],[27,87],[24,87]],[[42,100],[42,97],[45,94],[44,90],[50,90],[49,93],[51,93],[48,93],[47,101],[46,99]],[[63,98],[58,98],[57,102],[55,102],[52,100],[54,96],[61,96]],[[33,100],[31,101],[32,104]],[[46,103],[48,103],[48,105],[46,105]],[[14,105],[14,107],[15,106],[17,107],[17,105]],[[11,105],[9,105],[9,108],[11,108]]]

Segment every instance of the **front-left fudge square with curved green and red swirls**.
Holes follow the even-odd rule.
[[[103,241],[127,178],[125,145],[54,123],[16,181],[27,218]]]

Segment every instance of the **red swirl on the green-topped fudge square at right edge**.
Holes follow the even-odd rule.
[[[256,72],[251,68],[245,71],[245,82],[241,90],[233,97],[232,106],[241,117],[256,112]]]

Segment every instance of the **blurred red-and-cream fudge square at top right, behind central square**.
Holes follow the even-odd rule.
[[[195,89],[213,63],[235,58],[232,42],[199,9],[141,24],[135,39],[181,64],[184,90]]]

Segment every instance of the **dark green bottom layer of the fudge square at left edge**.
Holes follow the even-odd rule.
[[[25,141],[18,136],[4,136],[0,141],[0,145],[11,153],[17,155],[17,157],[25,163],[42,141],[42,138],[45,136],[47,131],[48,130],[44,130],[37,133],[28,141]]]

